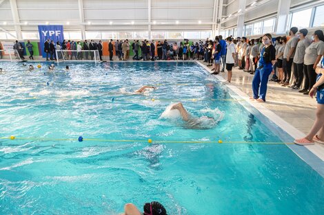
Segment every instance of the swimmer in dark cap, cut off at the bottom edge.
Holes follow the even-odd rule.
[[[157,201],[145,203],[143,206],[143,214],[139,212],[137,207],[132,203],[125,204],[125,212],[121,215],[167,215],[165,207]]]

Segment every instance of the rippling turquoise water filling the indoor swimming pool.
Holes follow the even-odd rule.
[[[119,214],[150,201],[168,214],[324,214],[324,179],[285,145],[154,143],[282,142],[199,65],[41,64],[1,63],[0,137],[139,142],[0,139],[1,214]],[[158,89],[128,93],[144,84]],[[161,117],[179,101],[217,124]]]

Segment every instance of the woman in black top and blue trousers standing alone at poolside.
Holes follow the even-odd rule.
[[[252,80],[253,97],[250,98],[256,100],[256,102],[265,102],[267,81],[273,71],[273,65],[276,63],[276,49],[271,44],[271,40],[271,34],[263,35],[262,42],[265,47],[261,51],[259,67],[256,69]]]

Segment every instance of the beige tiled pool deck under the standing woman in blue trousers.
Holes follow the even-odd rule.
[[[199,62],[207,71],[212,73],[212,67],[206,67],[206,63]],[[221,72],[215,78],[225,82],[227,73]],[[225,82],[227,87],[245,98],[247,102],[252,104],[256,109],[261,111],[263,115],[270,118],[275,124],[283,128],[288,134],[294,138],[304,137],[315,120],[316,100],[308,95],[303,95],[294,91],[289,87],[281,87],[276,82],[269,82],[267,89],[267,102],[259,103],[250,100],[252,95],[252,79],[254,75],[233,69],[231,83]],[[301,156],[297,151],[298,147],[289,145],[297,155]],[[321,161],[324,161],[324,145],[315,144],[314,146],[305,146],[310,152],[316,155]],[[305,153],[304,153],[305,154]],[[310,159],[310,155],[305,155]],[[307,159],[301,157],[302,159]],[[321,169],[324,170],[322,167]],[[322,171],[323,171],[322,170]]]

